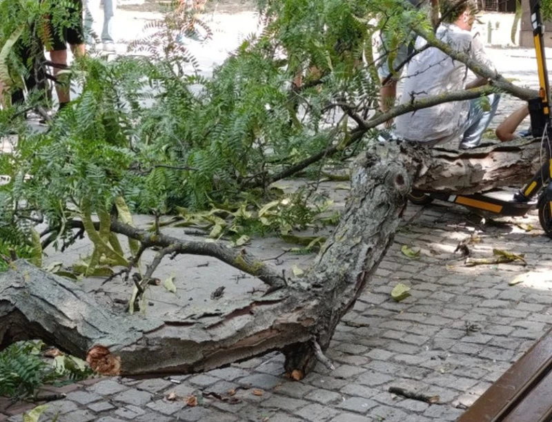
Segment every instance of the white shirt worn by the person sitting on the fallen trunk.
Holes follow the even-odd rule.
[[[437,29],[437,38],[454,50],[465,52],[472,59],[494,68],[478,34],[474,37],[471,32],[449,24]],[[416,48],[424,44],[426,40],[422,37],[416,39]],[[465,64],[451,59],[438,48],[430,47],[408,63],[401,103],[464,89],[467,75],[468,68]],[[416,142],[437,143],[448,140],[466,120],[468,112],[469,101],[422,108],[397,117],[396,133],[405,140]]]

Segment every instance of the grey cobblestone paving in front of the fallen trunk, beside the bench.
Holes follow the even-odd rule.
[[[552,323],[552,240],[535,215],[480,220],[446,204],[408,207],[375,278],[337,327],[327,352],[332,372],[319,365],[290,381],[282,356],[270,354],[205,374],[103,378],[62,387],[66,399],[50,402],[44,420],[59,413],[59,422],[454,421]],[[525,253],[527,265],[465,267],[453,251],[473,233],[473,256],[499,248]],[[402,255],[403,244],[420,248],[420,258]],[[509,285],[516,277],[524,281]],[[396,303],[390,292],[399,282],[412,296]],[[404,399],[390,386],[440,401]],[[168,401],[170,393],[177,400]],[[192,395],[195,407],[185,401]],[[5,406],[0,401],[0,411],[17,416],[0,421],[22,420],[25,407]]]

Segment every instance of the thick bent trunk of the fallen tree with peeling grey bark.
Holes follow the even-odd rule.
[[[0,276],[0,348],[43,338],[86,358],[103,374],[135,376],[210,370],[279,349],[286,355],[286,370],[304,374],[317,358],[324,360],[322,350],[337,323],[393,242],[413,178],[419,178],[417,186],[424,189],[465,191],[477,183],[488,187],[513,182],[514,175],[517,182],[532,171],[531,148],[520,150],[514,142],[491,151],[460,153],[452,160],[449,153],[419,144],[375,144],[356,160],[346,211],[303,278],[287,280],[285,287],[276,283],[266,296],[206,307],[203,314],[182,314],[177,320],[117,314],[74,282],[14,262]],[[524,155],[529,149],[532,158]],[[489,180],[482,165],[491,166],[493,178],[500,180]],[[112,230],[146,239],[145,233],[120,223]],[[258,261],[247,256],[248,267],[257,268]],[[266,269],[259,277],[271,280],[269,273]]]

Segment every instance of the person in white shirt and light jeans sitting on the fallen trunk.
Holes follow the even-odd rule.
[[[480,63],[494,68],[486,56],[479,35],[471,34],[477,3],[475,0],[442,0],[443,24],[436,36],[454,50],[465,52]],[[418,37],[416,48],[426,40]],[[468,69],[460,61],[451,59],[438,48],[430,47],[413,57],[408,64],[401,102],[446,94],[464,88],[477,88],[488,83],[477,77],[466,84]],[[397,117],[396,135],[404,140],[424,142],[428,145],[449,144],[460,148],[473,148],[481,142],[485,129],[495,115],[500,95],[489,95],[490,110],[484,110],[481,99],[448,102],[422,108]]]

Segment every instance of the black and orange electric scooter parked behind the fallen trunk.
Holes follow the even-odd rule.
[[[544,26],[540,16],[540,0],[530,0],[533,41],[537,55],[539,74],[539,97],[529,101],[531,117],[531,135],[537,138],[548,137],[552,142],[552,120],[549,108],[549,79],[544,57]],[[408,200],[413,204],[429,204],[433,200],[453,202],[469,209],[486,211],[497,215],[520,216],[531,209],[538,208],[540,225],[546,236],[552,238],[552,157],[549,144],[543,145],[546,162],[542,168],[518,192],[494,189],[473,195],[455,195],[451,193],[412,191]]]

